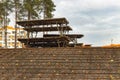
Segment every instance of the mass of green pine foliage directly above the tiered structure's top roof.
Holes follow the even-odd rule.
[[[18,19],[40,19],[52,18],[55,5],[52,0],[23,0],[22,6],[18,11]],[[42,15],[44,14],[44,15]]]

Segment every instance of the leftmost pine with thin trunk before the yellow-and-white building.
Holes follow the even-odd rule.
[[[1,0],[0,1],[0,18],[1,24],[3,23],[4,34],[5,34],[5,48],[7,48],[7,25],[10,20],[8,18],[9,14],[12,12],[12,5],[10,0]]]

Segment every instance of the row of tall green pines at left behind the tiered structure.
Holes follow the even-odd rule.
[[[10,14],[14,14],[15,21],[52,18],[55,7],[52,0],[0,0],[0,25],[5,32],[5,47],[7,47],[7,25],[11,21]]]

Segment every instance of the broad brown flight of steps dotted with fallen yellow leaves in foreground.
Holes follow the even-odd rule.
[[[0,49],[0,80],[120,80],[120,48]]]

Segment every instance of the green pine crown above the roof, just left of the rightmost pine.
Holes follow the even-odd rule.
[[[40,0],[23,0],[24,17],[30,19],[40,18],[38,12],[41,11]]]

